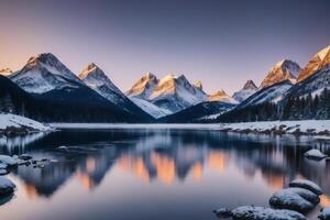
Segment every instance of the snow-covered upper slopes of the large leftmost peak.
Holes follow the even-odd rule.
[[[10,78],[32,94],[44,94],[66,87],[78,88],[84,85],[75,74],[50,53],[31,57],[28,64]]]

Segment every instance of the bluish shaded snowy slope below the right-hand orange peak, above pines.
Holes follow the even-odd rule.
[[[244,100],[242,103],[240,103],[235,109],[242,109],[249,106],[256,106],[264,102],[274,102],[277,103],[280,101],[287,90],[292,88],[293,84],[289,80],[282,81],[278,84],[275,84],[273,86],[263,88],[258,91],[256,91],[254,95],[249,97],[246,100]]]

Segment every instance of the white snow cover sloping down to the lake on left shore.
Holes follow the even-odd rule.
[[[11,113],[0,113],[0,131],[9,128],[26,128],[35,131],[50,131],[51,128],[37,121]]]

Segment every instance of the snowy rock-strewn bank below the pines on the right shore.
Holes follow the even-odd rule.
[[[244,133],[330,135],[330,120],[221,123],[220,128],[222,131]]]

